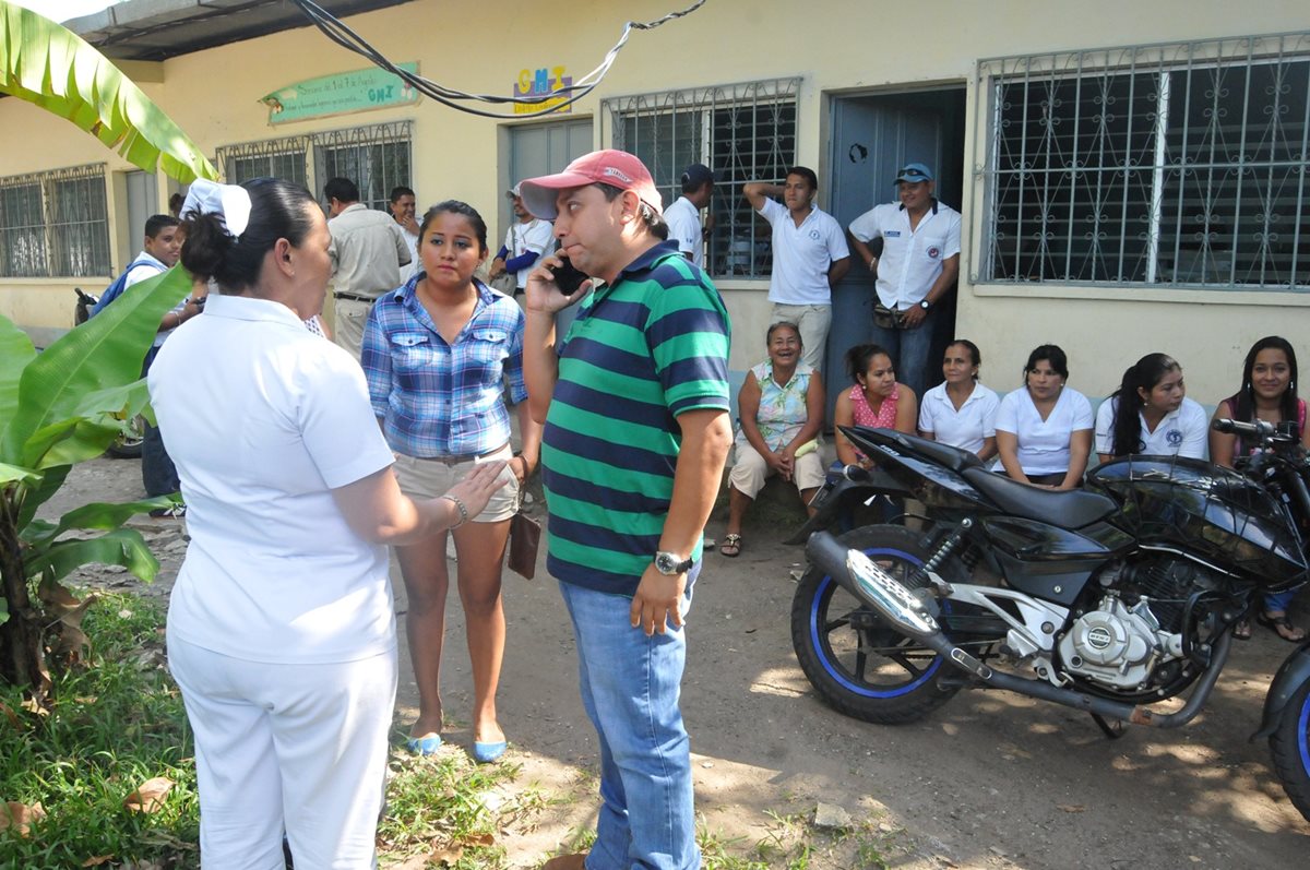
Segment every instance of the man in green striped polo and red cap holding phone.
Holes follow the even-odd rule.
[[[559,240],[528,278],[524,375],[545,423],[548,567],[572,618],[601,759],[590,856],[545,866],[692,870],[683,617],[732,442],[727,311],[664,241],[659,191],[633,155],[597,151],[520,191]],[[549,269],[562,258],[591,276],[570,295]],[[555,312],[583,296],[557,342]]]

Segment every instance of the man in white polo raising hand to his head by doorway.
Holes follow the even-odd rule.
[[[850,249],[841,224],[814,204],[819,178],[806,166],[789,169],[783,185],[753,181],[741,193],[773,225],[769,320],[799,326],[804,362],[821,371],[832,325],[832,288],[850,269]],[[786,204],[773,199],[778,195]]]

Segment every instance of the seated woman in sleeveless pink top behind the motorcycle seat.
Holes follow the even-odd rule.
[[[841,426],[869,426],[914,432],[918,419],[918,397],[905,384],[896,381],[892,358],[878,345],[857,345],[846,351],[846,371],[855,385],[844,389],[833,409],[833,423]],[[837,460],[842,465],[869,468],[869,459],[837,430]]]

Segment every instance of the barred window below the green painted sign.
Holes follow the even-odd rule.
[[[224,178],[238,185],[271,176],[322,197],[329,178],[350,178],[369,208],[386,210],[392,187],[410,185],[411,123],[401,121],[350,130],[250,142],[219,148]]]

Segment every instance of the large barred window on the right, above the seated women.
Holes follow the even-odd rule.
[[[1310,34],[980,63],[982,280],[1310,287]]]

